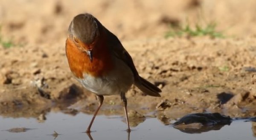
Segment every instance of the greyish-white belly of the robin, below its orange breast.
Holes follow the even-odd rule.
[[[125,63],[116,59],[115,68],[106,76],[93,77],[84,73],[84,78],[78,81],[96,95],[116,95],[129,90],[134,83],[134,75]]]

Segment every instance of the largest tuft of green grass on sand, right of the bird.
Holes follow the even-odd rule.
[[[205,27],[202,25],[196,24],[194,28],[191,25],[187,24],[185,27],[173,28],[171,26],[170,31],[168,31],[165,35],[166,38],[168,37],[175,37],[175,36],[210,36],[212,38],[224,38],[222,32],[216,31],[216,23],[210,22]]]

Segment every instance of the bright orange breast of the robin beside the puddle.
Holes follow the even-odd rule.
[[[67,38],[67,60],[70,70],[77,78],[83,78],[84,73],[94,77],[103,76],[113,68],[111,53],[104,44],[102,41],[97,43],[97,47],[93,49],[93,62],[90,62],[87,53],[79,50],[74,42]]]

